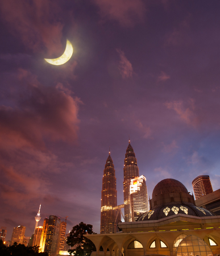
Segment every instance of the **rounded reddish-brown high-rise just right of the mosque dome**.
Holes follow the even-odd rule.
[[[213,192],[209,175],[200,175],[196,177],[196,179],[193,180],[192,185],[196,199]]]

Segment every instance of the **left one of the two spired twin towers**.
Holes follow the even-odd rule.
[[[105,169],[102,178],[102,197],[101,197],[101,226],[100,233],[116,233],[119,215],[116,220],[116,211],[113,208],[117,206],[116,177],[113,160],[110,152],[107,157]]]

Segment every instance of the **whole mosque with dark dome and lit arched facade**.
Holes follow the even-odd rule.
[[[85,235],[96,246],[92,255],[220,255],[220,216],[197,207],[175,179],[160,181],[153,189],[150,210],[118,227],[121,231],[115,234]]]

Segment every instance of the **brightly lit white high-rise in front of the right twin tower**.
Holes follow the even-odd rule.
[[[144,175],[131,179],[130,203],[131,221],[136,221],[140,215],[149,210],[146,177]]]

